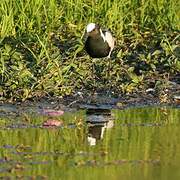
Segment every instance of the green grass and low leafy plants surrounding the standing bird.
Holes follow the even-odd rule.
[[[178,0],[1,0],[1,100],[64,96],[78,89],[129,93],[147,88],[154,76],[175,76],[179,9]],[[93,76],[83,50],[89,22],[109,28],[116,38],[109,74],[107,61],[98,60]]]

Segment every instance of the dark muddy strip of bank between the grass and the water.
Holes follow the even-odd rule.
[[[76,111],[79,109],[124,109],[133,106],[172,105],[180,106],[180,85],[171,84],[163,91],[149,88],[146,91],[131,94],[114,94],[113,92],[76,92],[64,98],[34,98],[25,102],[0,102],[0,115],[11,115],[22,112],[37,112],[42,108]]]

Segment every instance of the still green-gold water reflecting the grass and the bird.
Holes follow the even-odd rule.
[[[178,108],[129,108],[106,117],[65,113],[57,118],[60,128],[43,128],[47,118],[1,115],[1,178],[180,179]]]

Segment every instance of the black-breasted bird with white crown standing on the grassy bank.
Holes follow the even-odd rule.
[[[111,32],[102,30],[99,24],[89,23],[86,27],[85,50],[92,58],[110,58],[115,40]]]

